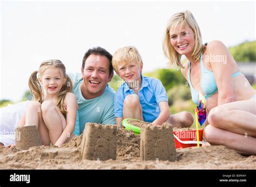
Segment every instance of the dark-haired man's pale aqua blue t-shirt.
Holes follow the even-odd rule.
[[[80,135],[86,123],[116,124],[114,118],[114,90],[107,84],[103,95],[93,99],[85,99],[82,95],[83,78],[79,73],[68,74],[73,82],[72,92],[76,95],[79,106],[75,130],[73,134]]]

